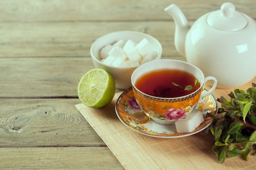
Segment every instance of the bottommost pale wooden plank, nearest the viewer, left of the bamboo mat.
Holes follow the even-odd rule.
[[[0,148],[0,153],[1,170],[124,170],[107,147]]]

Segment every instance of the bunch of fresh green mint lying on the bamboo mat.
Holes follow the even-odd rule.
[[[215,120],[209,129],[214,136],[212,150],[220,163],[238,155],[248,160],[256,146],[256,84],[252,83],[246,92],[235,89],[229,97],[229,101],[223,96],[217,99],[222,106],[218,113],[224,113],[222,117],[207,113]]]

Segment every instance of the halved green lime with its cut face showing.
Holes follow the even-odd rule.
[[[101,68],[94,68],[83,75],[77,92],[83,104],[92,108],[101,108],[112,101],[115,89],[113,77]]]

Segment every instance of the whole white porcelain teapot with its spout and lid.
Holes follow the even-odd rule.
[[[190,27],[182,11],[171,4],[165,11],[175,22],[175,48],[217,86],[243,85],[256,76],[256,22],[226,2]]]

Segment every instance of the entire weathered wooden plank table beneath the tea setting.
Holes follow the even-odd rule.
[[[94,68],[92,42],[113,31],[141,31],[159,40],[162,58],[185,61],[175,50],[175,24],[164,8],[177,4],[193,23],[223,2],[1,0],[0,169],[124,169],[75,108],[79,79]],[[230,2],[256,19],[254,0]]]

